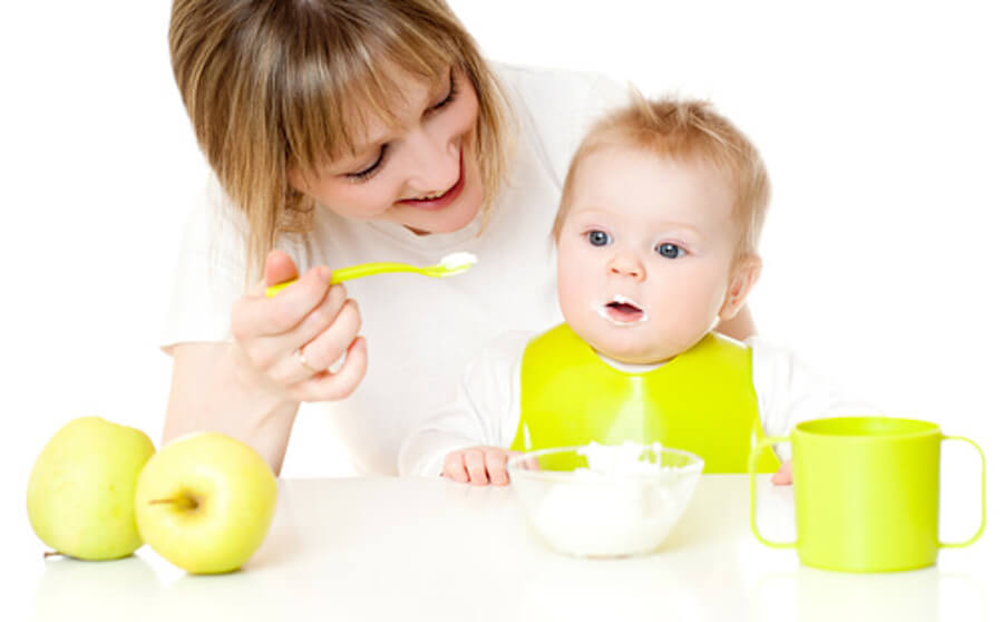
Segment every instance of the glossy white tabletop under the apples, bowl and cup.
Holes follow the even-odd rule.
[[[768,535],[792,533],[792,499],[789,487],[762,486]],[[992,526],[973,547],[942,552],[936,567],[853,575],[802,567],[793,551],[762,546],[748,506],[746,477],[704,476],[656,554],[581,560],[546,548],[507,487],[282,480],[272,531],[242,572],[187,576],[149,547],[116,562],[43,562],[35,540],[31,555],[6,564],[22,572],[4,577],[13,590],[0,605],[16,615],[0,618],[1003,620]]]

